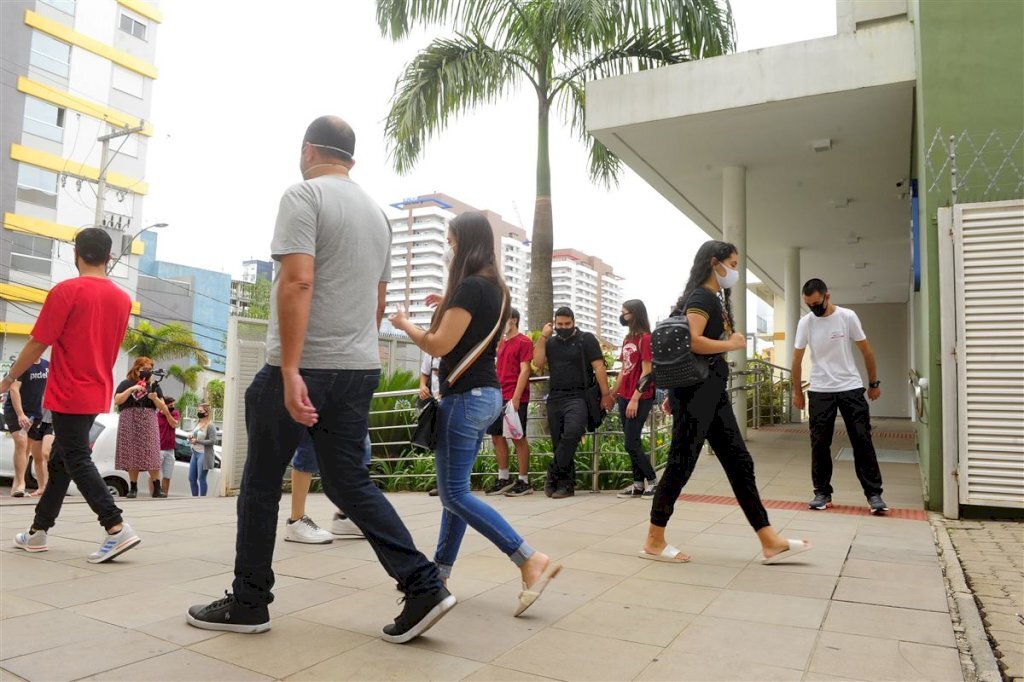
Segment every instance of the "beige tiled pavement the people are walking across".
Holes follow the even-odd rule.
[[[764,497],[804,501],[806,435],[752,431],[750,441]],[[836,501],[862,506],[852,469],[837,463]],[[883,473],[890,505],[921,509],[916,466],[883,464]],[[685,492],[730,495],[713,457],[701,459]],[[429,554],[436,498],[389,497]],[[693,561],[668,565],[636,557],[643,502],[579,493],[488,502],[566,568],[514,619],[517,571],[471,531],[452,580],[459,605],[426,637],[395,646],[378,633],[400,608],[397,593],[362,541],[279,543],[273,629],[218,634],[185,625],[184,609],[229,586],[233,500],[125,501],[142,545],[92,565],[84,557],[99,538],[86,505],[68,504],[50,550],[28,555],[8,548],[32,506],[5,499],[0,678],[963,679],[925,520],[770,509],[777,527],[815,549],[800,562],[764,566],[737,507],[684,501],[669,537]],[[309,507],[313,518],[330,518],[323,496]]]

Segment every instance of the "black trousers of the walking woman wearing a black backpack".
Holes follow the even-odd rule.
[[[732,402],[725,390],[728,372],[725,363],[718,360],[712,365],[703,383],[674,389],[672,446],[669,464],[651,504],[650,522],[653,525],[665,527],[669,524],[676,500],[693,473],[705,440],[711,443],[725,469],[746,521],[755,530],[770,525],[754,478],[754,460],[739,433]]]

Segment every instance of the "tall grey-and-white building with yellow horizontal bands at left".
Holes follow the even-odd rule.
[[[96,220],[102,143],[111,141],[101,226],[120,255],[112,279],[139,301],[137,236],[161,13],[144,0],[0,3],[0,355],[18,352],[51,287],[77,275],[72,242]]]

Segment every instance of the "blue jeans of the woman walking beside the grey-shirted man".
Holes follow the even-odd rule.
[[[508,554],[517,566],[534,554],[501,514],[469,492],[469,475],[480,452],[483,432],[501,410],[502,392],[497,388],[472,388],[441,399],[434,457],[437,494],[444,511],[434,561],[444,578],[452,574],[467,523]]]

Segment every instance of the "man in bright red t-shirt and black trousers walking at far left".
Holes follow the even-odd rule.
[[[90,563],[110,561],[140,542],[121,518],[121,510],[92,463],[89,442],[96,415],[110,410],[114,363],[131,314],[131,299],[106,278],[110,259],[110,235],[98,227],[78,233],[75,265],[79,276],[50,290],[31,338],[10,372],[0,380],[0,391],[7,390],[14,377],[53,346],[43,398],[43,407],[53,415],[50,480],[36,505],[32,526],[14,537],[14,547],[46,551],[46,531],[56,522],[74,480],[106,530],[99,549],[89,555]]]

